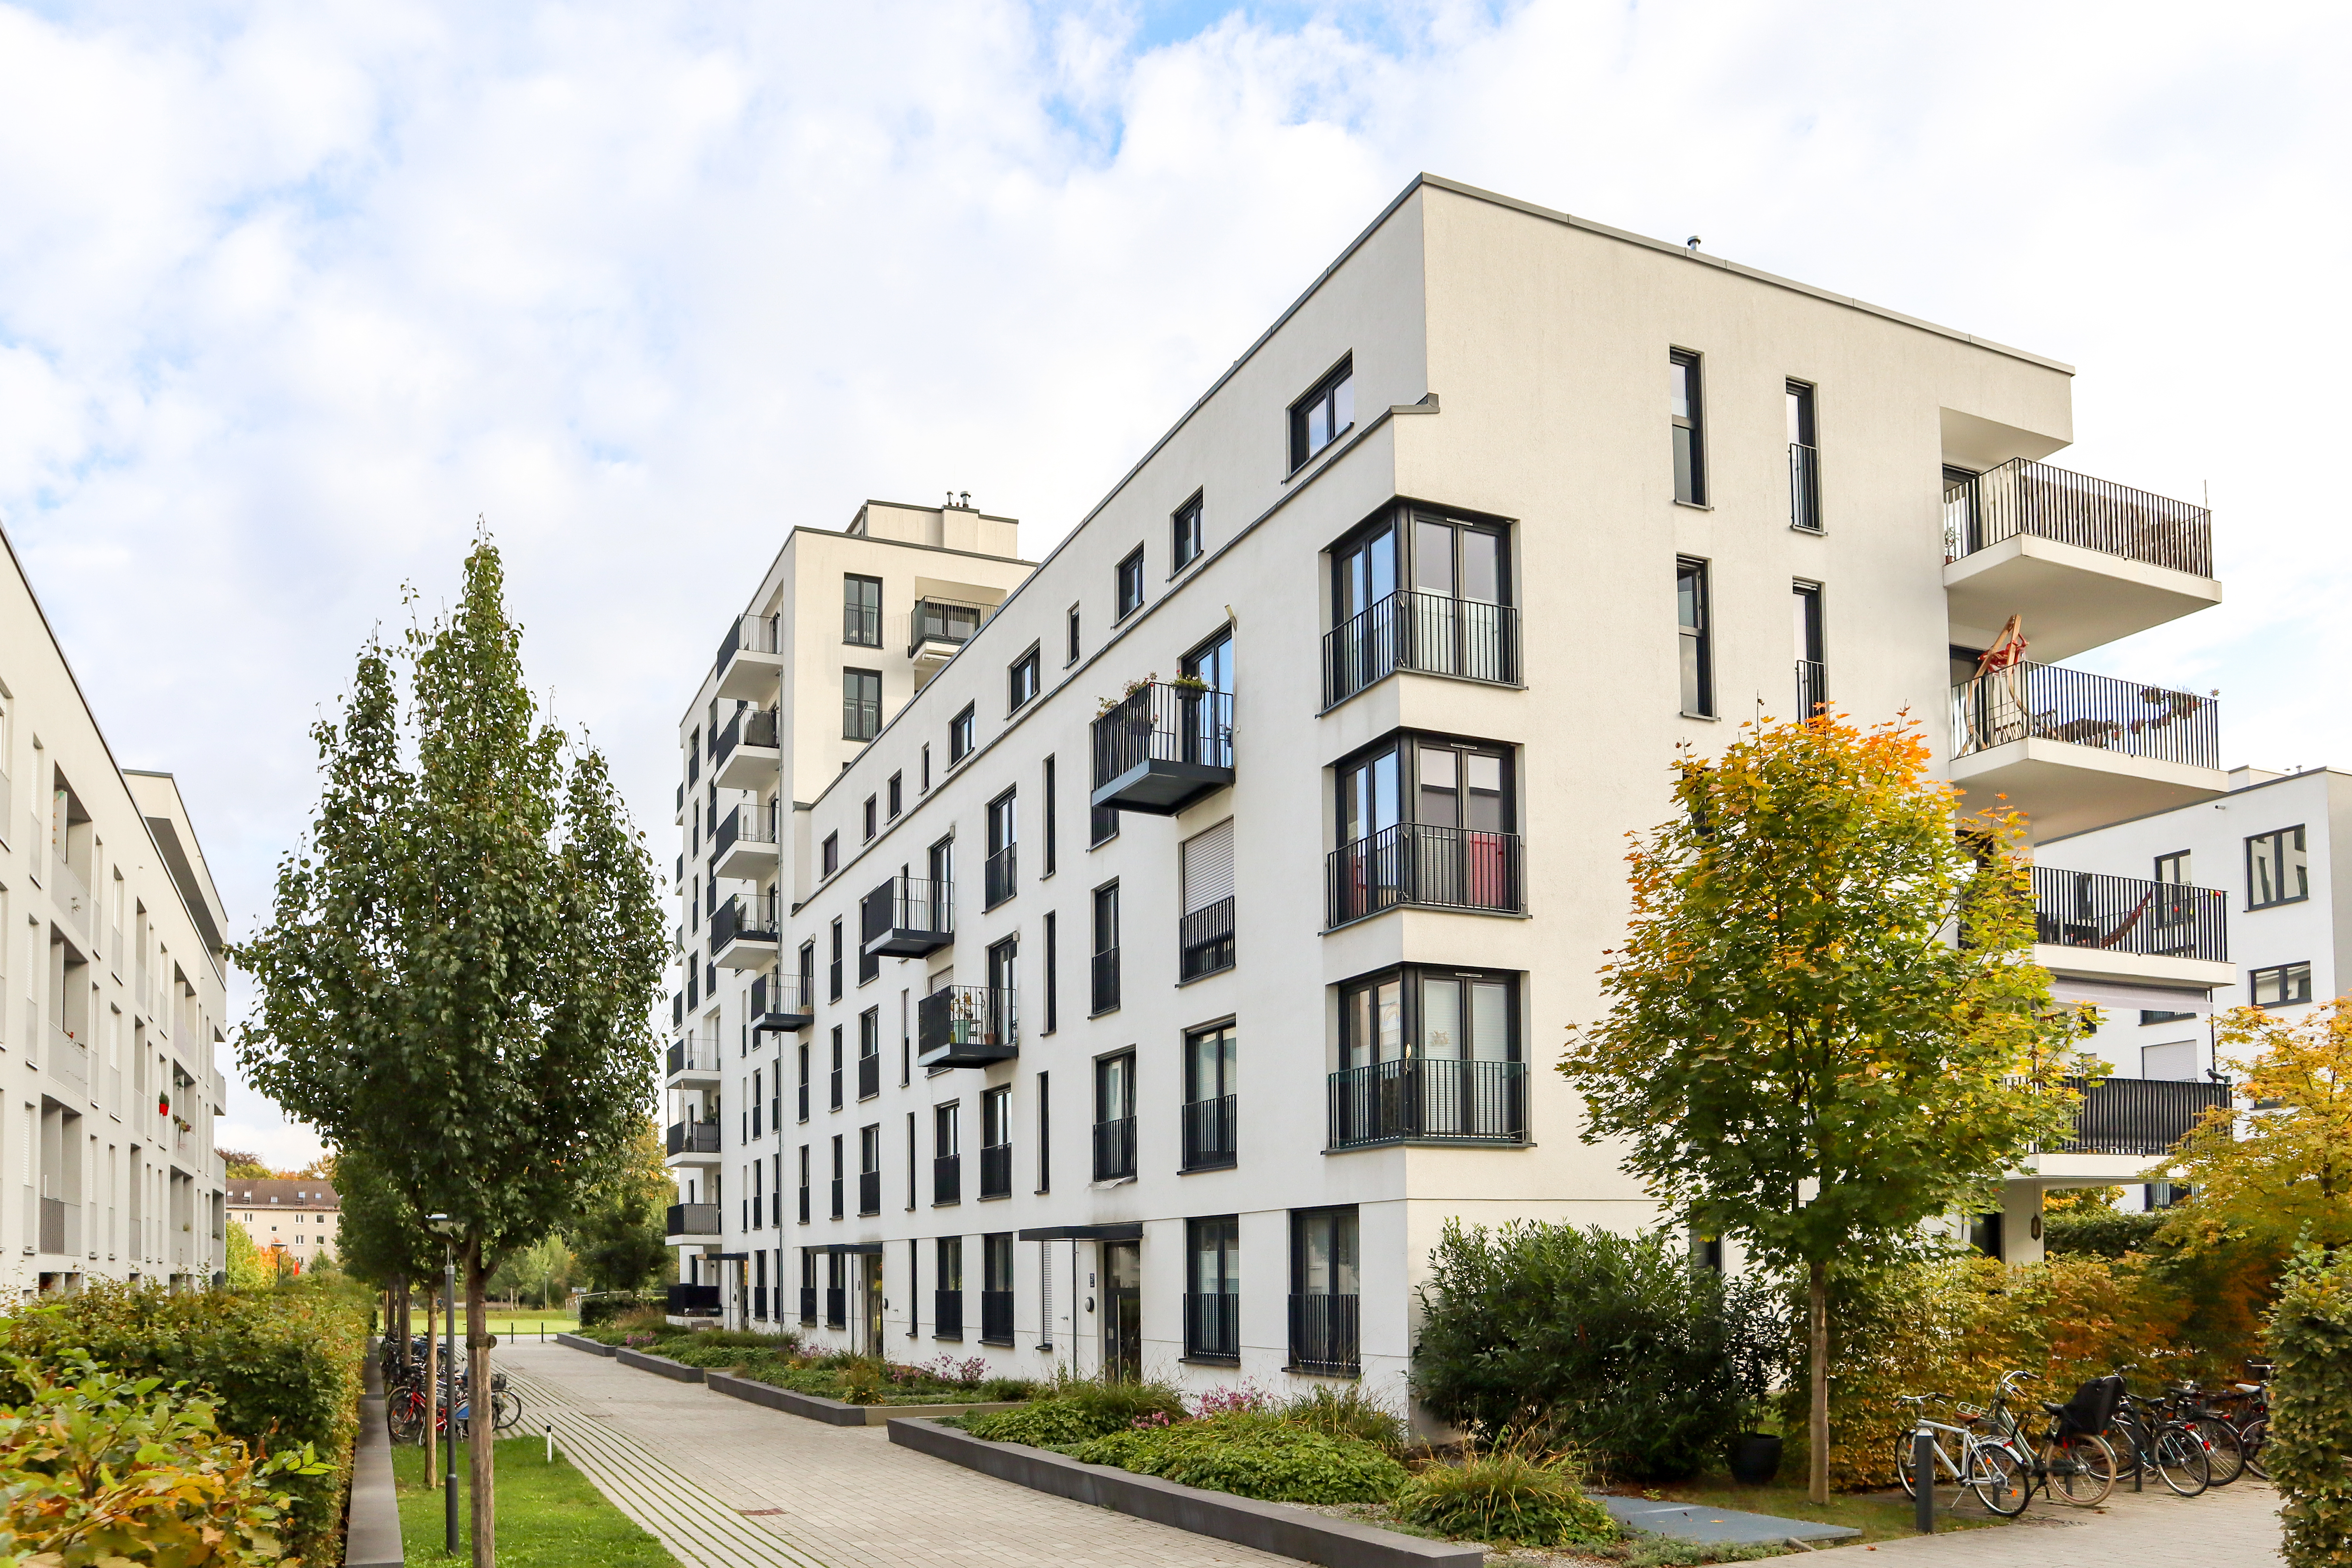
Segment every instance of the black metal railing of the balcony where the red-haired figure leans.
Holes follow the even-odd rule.
[[[1952,757],[2011,741],[2065,741],[2103,752],[2220,766],[2220,705],[2192,691],[2016,663],[1952,686]]]

